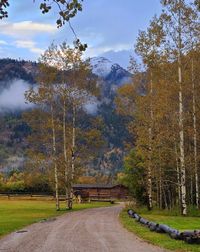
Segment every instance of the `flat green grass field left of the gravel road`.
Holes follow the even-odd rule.
[[[74,204],[72,211],[102,206],[110,206],[110,203]],[[0,237],[34,222],[66,212],[69,210],[64,209],[64,202],[61,203],[61,211],[57,212],[55,211],[55,202],[52,200],[0,199]]]

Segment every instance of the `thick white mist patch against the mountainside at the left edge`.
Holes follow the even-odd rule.
[[[24,93],[30,87],[29,83],[23,80],[14,80],[9,88],[0,93],[0,111],[25,110],[32,107],[32,104],[25,103]]]

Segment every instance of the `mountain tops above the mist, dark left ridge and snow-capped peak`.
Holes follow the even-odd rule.
[[[101,79],[101,89],[109,97],[116,89],[128,83],[132,75],[119,64],[113,63],[104,57],[91,58],[93,73]],[[13,81],[23,80],[28,84],[36,83],[38,64],[31,61],[14,59],[0,59],[0,94],[8,89]],[[20,83],[18,84],[20,85]]]

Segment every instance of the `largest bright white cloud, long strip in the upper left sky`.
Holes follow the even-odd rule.
[[[12,37],[34,36],[39,33],[54,33],[57,28],[55,25],[23,21],[17,23],[0,23],[0,33]]]

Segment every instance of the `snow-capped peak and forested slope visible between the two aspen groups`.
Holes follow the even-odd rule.
[[[98,106],[98,115],[103,118],[104,137],[107,142],[103,155],[98,158],[96,169],[109,176],[122,169],[124,142],[130,138],[126,128],[129,118],[116,113],[114,100],[117,89],[130,83],[132,74],[104,57],[92,58],[90,62],[93,73],[100,78],[102,98]]]

